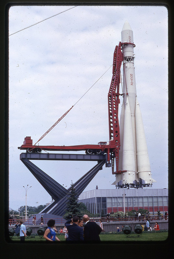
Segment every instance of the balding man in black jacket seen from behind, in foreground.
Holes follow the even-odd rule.
[[[88,215],[83,216],[84,226],[84,241],[100,241],[99,234],[102,228],[94,221],[89,221]]]

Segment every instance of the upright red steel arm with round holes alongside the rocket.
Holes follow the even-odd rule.
[[[108,118],[109,118],[109,143],[115,148],[111,150],[111,165],[112,174],[118,172],[118,157],[120,148],[120,132],[118,122],[118,105],[119,99],[119,84],[120,84],[120,70],[123,61],[123,53],[121,51],[121,42],[115,47],[113,54],[113,69],[112,80],[108,93]],[[116,160],[116,172],[114,172],[114,161]]]

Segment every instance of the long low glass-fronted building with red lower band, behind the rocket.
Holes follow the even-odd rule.
[[[125,194],[125,195],[124,195]],[[91,213],[147,209],[151,215],[168,211],[168,189],[95,189],[82,192],[79,202],[83,202]]]

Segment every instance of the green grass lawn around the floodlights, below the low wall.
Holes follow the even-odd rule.
[[[58,238],[65,242],[64,235],[59,235]],[[100,239],[101,241],[164,241],[168,238],[168,232],[161,232],[161,233],[142,233],[142,236],[137,236],[134,232],[130,236],[126,236],[122,233],[120,234],[101,234]],[[11,238],[14,242],[19,242],[20,239],[17,236],[13,236]],[[28,238],[25,238],[25,242],[45,242],[44,238],[40,238],[39,236],[30,236]]]

